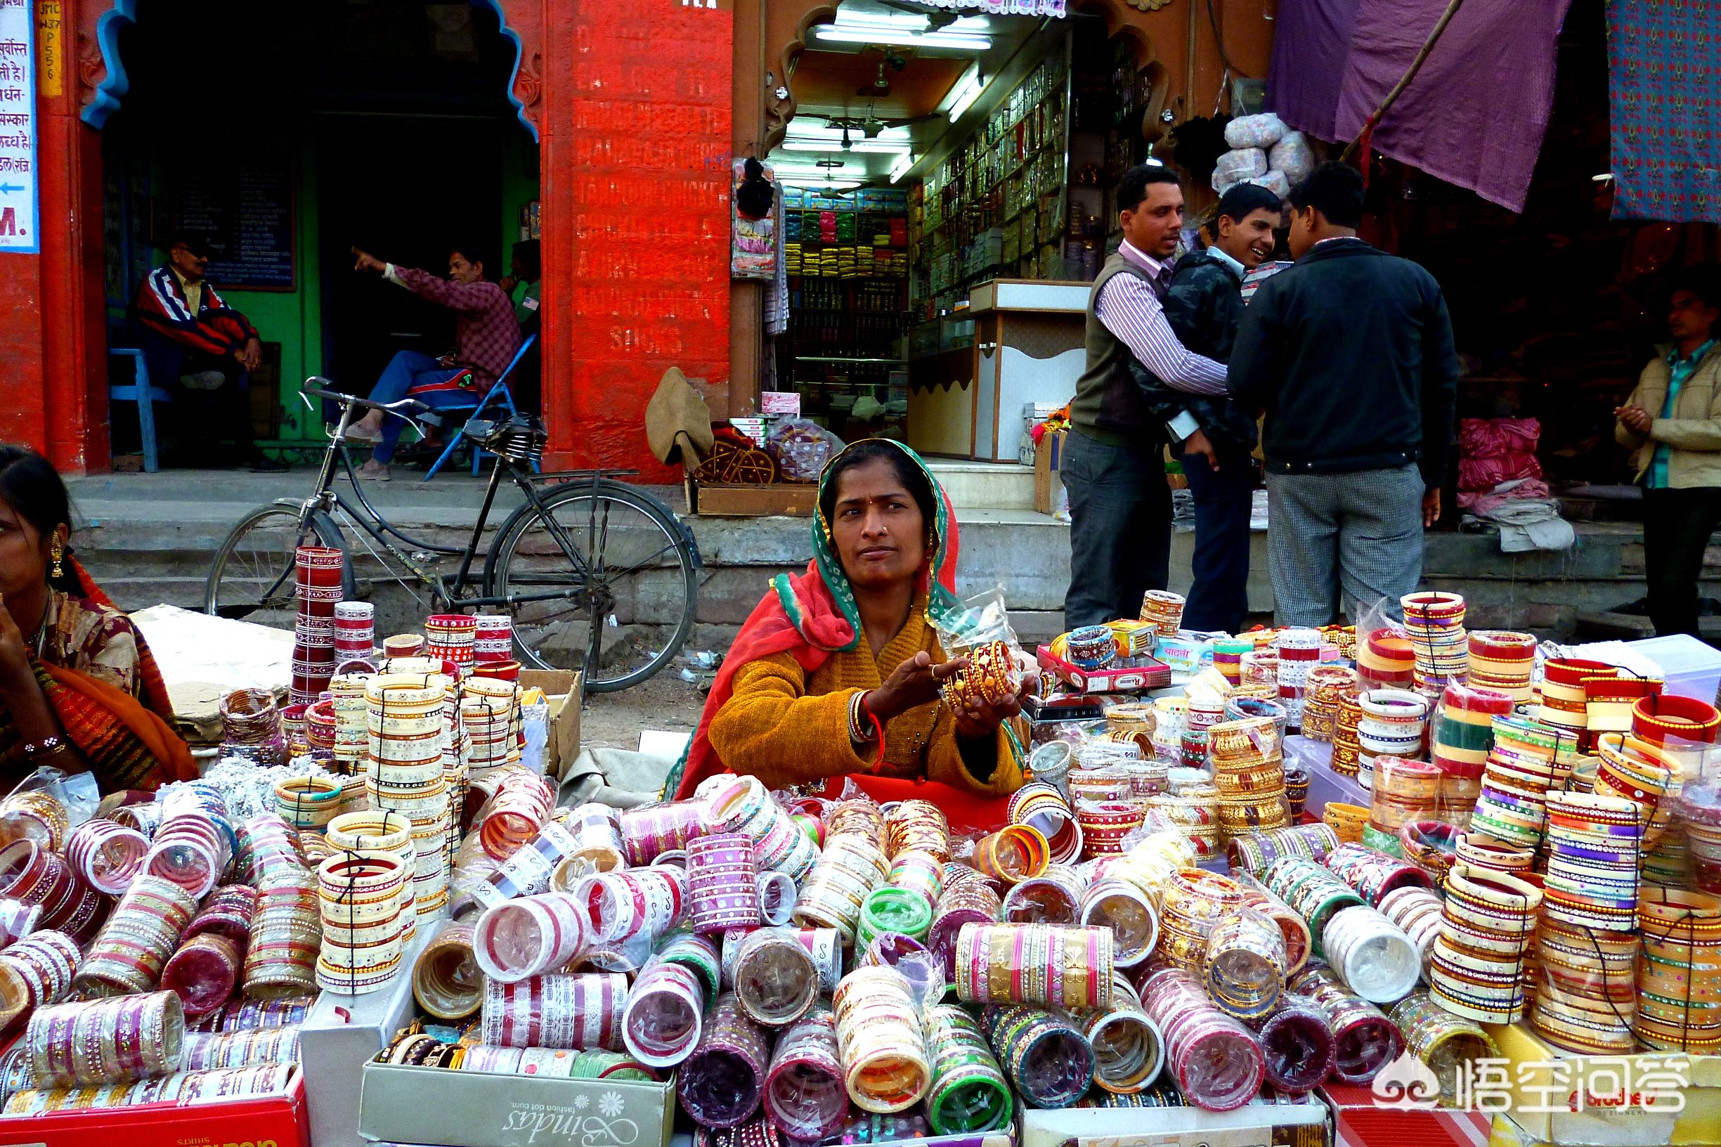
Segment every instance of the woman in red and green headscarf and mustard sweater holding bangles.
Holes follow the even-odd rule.
[[[735,637],[668,789],[687,797],[725,770],[771,789],[854,775],[878,799],[1002,820],[1022,785],[1005,727],[1021,698],[953,710],[940,696],[967,661],[947,660],[933,627],[962,608],[938,480],[898,443],[848,446],[819,479],[812,546],[807,572],[776,577]]]

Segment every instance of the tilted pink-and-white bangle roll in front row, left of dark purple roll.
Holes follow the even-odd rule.
[[[1189,1102],[1234,1111],[1261,1090],[1267,1059],[1260,1037],[1215,1008],[1194,975],[1179,968],[1153,973],[1141,1002],[1165,1033],[1172,1078]]]

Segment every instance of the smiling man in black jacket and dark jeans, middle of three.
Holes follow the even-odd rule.
[[[1274,253],[1279,196],[1239,183],[1203,231],[1206,248],[1184,255],[1165,294],[1179,341],[1215,362],[1231,358],[1243,320],[1243,276]],[[1172,450],[1182,451],[1194,498],[1194,558],[1184,629],[1236,634],[1249,613],[1249,510],[1255,499],[1255,418],[1225,394],[1182,394],[1131,363]],[[1179,446],[1181,444],[1181,446]]]

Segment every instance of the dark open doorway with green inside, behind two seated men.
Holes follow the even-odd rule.
[[[353,246],[437,274],[472,246],[499,279],[535,238],[537,145],[506,95],[516,45],[489,2],[138,0],[134,16],[102,127],[108,346],[139,344],[131,307],[169,236],[200,236],[208,281],[263,341],[253,436],[306,458],[322,425],[305,377],[363,394],[394,351],[453,344],[447,312],[355,274]],[[220,462],[191,406],[157,408],[163,465]],[[115,455],[138,450],[129,403],[112,432]]]

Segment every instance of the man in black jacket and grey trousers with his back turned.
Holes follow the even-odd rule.
[[[1268,555],[1280,625],[1325,625],[1422,580],[1440,517],[1458,355],[1440,284],[1356,238],[1363,177],[1322,164],[1291,191],[1296,265],[1237,329],[1231,391],[1267,408]]]

